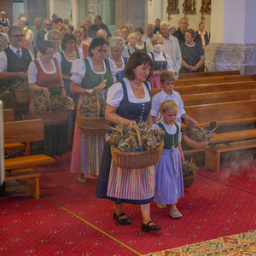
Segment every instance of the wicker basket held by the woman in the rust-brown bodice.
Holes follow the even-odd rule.
[[[49,126],[49,125],[61,125],[67,121],[68,114],[67,110],[64,112],[48,112],[48,113],[36,113],[33,112],[33,119],[43,119],[44,120],[44,126]]]

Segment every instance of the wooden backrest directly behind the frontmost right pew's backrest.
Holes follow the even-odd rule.
[[[252,90],[230,90],[221,92],[199,93],[183,95],[184,106],[204,105],[218,102],[240,102],[256,100],[256,89]]]

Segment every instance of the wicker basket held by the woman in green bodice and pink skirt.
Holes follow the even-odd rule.
[[[76,122],[79,130],[87,135],[105,135],[108,131],[109,121],[102,117],[87,118],[78,111]]]

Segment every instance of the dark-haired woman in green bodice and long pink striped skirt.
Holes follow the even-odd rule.
[[[95,38],[88,53],[88,58],[74,61],[71,69],[70,91],[79,94],[78,109],[87,97],[91,97],[89,89],[107,80],[106,87],[96,94],[106,100],[108,88],[116,81],[116,67],[107,58],[108,42],[104,38]],[[99,174],[104,142],[103,135],[85,135],[75,125],[70,172],[79,174],[79,183],[85,183],[85,177],[96,178]]]

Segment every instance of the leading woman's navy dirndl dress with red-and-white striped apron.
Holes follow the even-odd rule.
[[[135,120],[137,123],[140,121],[140,119],[142,119],[144,122],[147,121],[148,114],[150,113],[150,109],[151,109],[151,101],[142,102],[142,103],[129,102],[125,82],[124,80],[120,80],[119,82],[122,84],[124,97],[122,102],[119,103],[119,108],[117,108],[116,113],[125,119]],[[144,83],[144,84],[148,90],[149,96],[151,97],[148,83]],[[108,133],[111,133],[111,130],[108,131]],[[111,174],[112,172],[116,171],[116,169],[119,169],[116,173],[119,173],[120,176],[122,176],[122,174],[125,173],[125,171],[126,173],[128,173],[128,175],[130,175],[131,172],[133,173],[136,172],[137,177],[141,178],[140,180],[141,183],[138,185],[138,188],[134,189],[129,187],[129,183],[130,183],[129,178],[127,178],[126,180],[125,178],[123,179],[123,182],[125,182],[126,186],[120,186],[120,189],[113,188],[112,184],[113,186],[115,186],[116,183],[115,183],[115,180],[112,179]],[[144,171],[147,171],[147,172],[144,172]],[[147,173],[148,177],[144,179],[143,177],[140,177],[139,173]],[[149,182],[147,183],[146,180],[148,180]],[[148,193],[148,191],[143,191],[145,192],[144,194],[149,195],[147,198],[145,198],[145,196],[142,193],[140,193],[140,189],[145,188],[143,187],[143,183],[148,186],[147,187],[148,191],[152,190],[150,191],[150,193]],[[126,187],[126,189],[123,189],[124,187]],[[120,194],[120,196],[119,197],[108,196],[109,194],[111,194],[112,189],[114,190],[113,195]],[[122,191],[119,191],[119,190],[122,190]],[[127,196],[127,194],[129,195]],[[135,194],[137,194],[138,196],[137,195],[134,196]],[[110,153],[110,145],[109,143],[105,143],[103,154],[102,154],[102,166],[100,169],[100,174],[99,174],[98,183],[96,187],[96,196],[98,198],[107,198],[111,201],[114,201],[116,204],[125,202],[125,203],[130,203],[135,205],[141,205],[141,204],[147,204],[149,202],[154,201],[154,166],[149,166],[143,169],[129,169],[129,170],[121,169],[115,166],[115,164],[113,163],[111,153]],[[136,199],[131,199],[131,198],[136,198]],[[143,199],[139,199],[139,198],[143,198]]]

